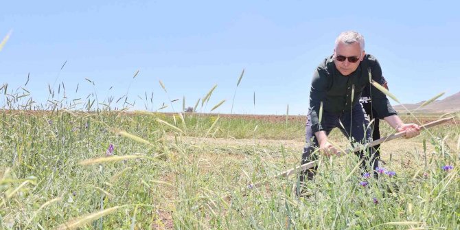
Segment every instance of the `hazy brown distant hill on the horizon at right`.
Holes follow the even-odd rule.
[[[418,108],[423,102],[416,104],[403,104],[409,111]],[[405,113],[406,110],[401,105],[393,106],[396,111]],[[436,100],[427,106],[423,106],[417,110],[417,113],[452,113],[460,111],[460,92],[450,95],[443,100]]]

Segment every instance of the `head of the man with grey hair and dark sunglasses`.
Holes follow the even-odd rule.
[[[338,35],[334,48],[334,64],[344,76],[358,69],[364,55],[363,35],[354,31],[342,32]]]

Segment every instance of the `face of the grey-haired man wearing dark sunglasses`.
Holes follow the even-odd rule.
[[[365,55],[364,50],[361,51],[359,43],[352,43],[352,44],[345,44],[345,43],[338,43],[336,48],[334,49],[334,64],[340,73],[343,76],[348,76],[350,73],[353,73],[356,69],[358,69],[359,63],[363,60]],[[347,57],[343,61],[337,60],[337,56]],[[354,58],[349,58],[354,57]],[[350,59],[358,58],[357,62],[350,62]],[[340,58],[339,58],[340,59]]]

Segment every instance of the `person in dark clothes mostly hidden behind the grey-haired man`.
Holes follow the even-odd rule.
[[[382,85],[385,89],[388,90],[388,82],[385,80],[385,78],[382,76],[382,82],[378,82],[379,84]],[[371,122],[371,137],[373,140],[380,139],[380,119],[378,119],[378,112],[373,109],[372,106],[372,91],[371,91],[371,85],[367,85],[365,89],[363,90],[363,94],[361,95],[359,102],[363,105],[364,111],[367,114],[366,119]],[[373,149],[375,150],[375,159],[376,161],[380,160],[380,144],[373,146]]]

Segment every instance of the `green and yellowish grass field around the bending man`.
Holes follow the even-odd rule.
[[[171,115],[161,113],[2,111],[0,115],[3,229],[53,229],[75,218],[84,229],[460,227],[459,150],[452,145],[460,132],[455,124],[433,128],[433,137],[427,133],[418,137],[435,149],[434,154],[425,153],[426,166],[421,157],[411,168],[398,168],[395,177],[367,179],[367,187],[359,185],[364,180],[360,173],[352,172],[356,157],[321,158],[319,175],[308,184],[311,196],[297,198],[292,191],[296,176],[270,179],[257,189],[242,188],[293,168],[301,149],[250,142],[200,144],[176,130],[203,137],[217,115],[185,115],[185,126],[177,115],[174,123]],[[150,144],[119,136],[119,130]],[[390,130],[383,126],[383,132]],[[228,139],[301,141],[304,124],[221,117],[209,133]],[[439,142],[447,133],[448,147]],[[333,135],[339,138],[338,133]],[[115,156],[157,158],[79,164],[104,157],[109,143],[115,145]],[[423,149],[418,151],[424,154]],[[455,168],[445,172],[443,165]],[[397,168],[392,163],[385,167]],[[109,211],[98,214],[104,209]]]

